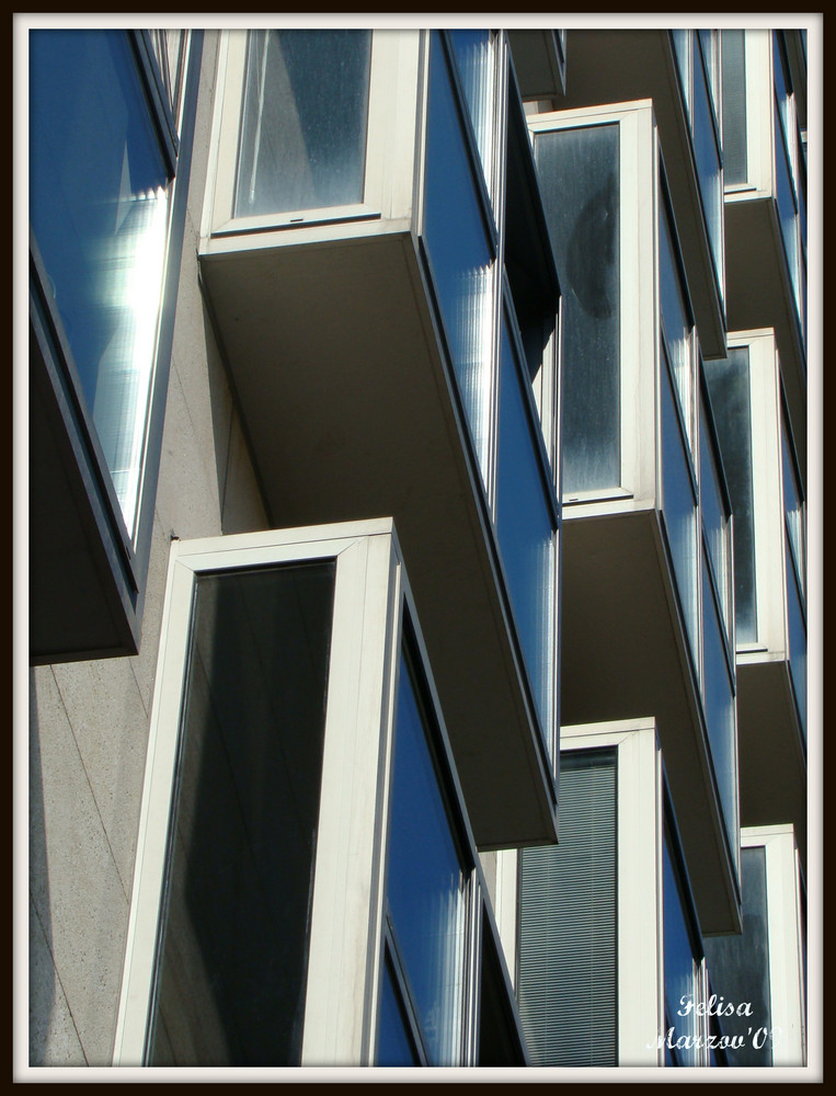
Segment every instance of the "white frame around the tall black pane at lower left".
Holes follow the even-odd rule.
[[[479,940],[499,945],[488,888],[456,777],[438,697],[390,518],[172,543],[148,741],[113,1062],[144,1063],[180,741],[195,581],[206,572],[334,560],[322,783],[317,831],[302,1065],[375,1061],[386,938],[386,859],[397,677],[409,614],[435,717],[446,791],[460,815],[468,916],[460,1061],[478,1052]],[[511,980],[505,971],[508,996]],[[520,1036],[520,1043],[524,1042]]]

